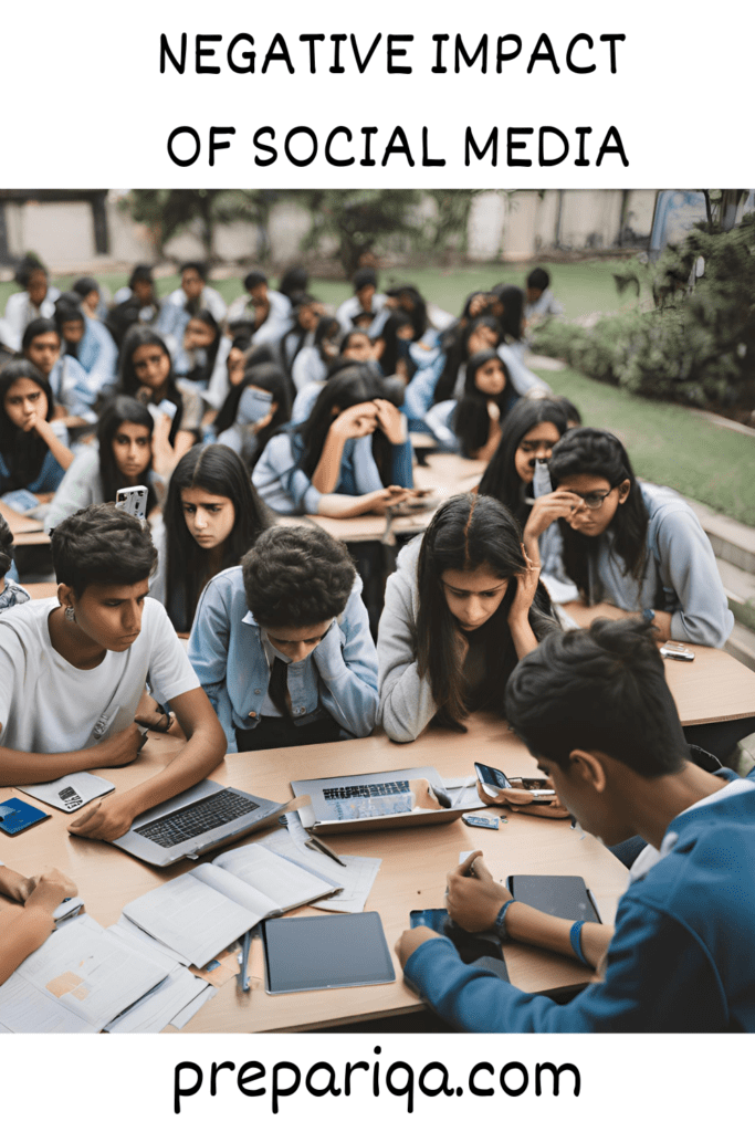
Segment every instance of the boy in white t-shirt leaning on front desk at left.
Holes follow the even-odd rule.
[[[83,811],[69,825],[79,837],[121,837],[138,814],[206,778],[225,754],[223,729],[183,646],[147,597],[155,558],[138,520],[95,504],[52,534],[58,598],[0,619],[0,786],[134,762],[147,674],[188,738],[160,773]]]

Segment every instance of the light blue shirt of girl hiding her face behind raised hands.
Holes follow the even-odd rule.
[[[412,445],[392,445],[392,483],[412,487]],[[271,437],[251,473],[251,482],[268,507],[281,515],[316,515],[321,492],[301,468],[303,444],[298,432],[281,432]],[[375,457],[372,437],[350,438],[343,446],[335,495],[362,496],[384,487]]]

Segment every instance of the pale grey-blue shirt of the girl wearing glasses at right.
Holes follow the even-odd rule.
[[[589,600],[619,609],[671,614],[671,640],[721,649],[733,628],[715,556],[689,504],[671,488],[641,483],[650,521],[645,572],[640,582],[624,573],[614,552],[614,532],[600,535],[590,559]],[[660,600],[660,604],[659,604]]]

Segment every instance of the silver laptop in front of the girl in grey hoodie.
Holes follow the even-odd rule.
[[[435,766],[301,779],[291,789],[298,797],[310,797],[309,805],[299,808],[302,825],[324,833],[436,825],[455,822],[464,813],[464,807],[453,805]]]

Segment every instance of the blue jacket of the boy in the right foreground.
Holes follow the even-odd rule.
[[[421,944],[404,977],[457,1029],[491,1034],[755,1032],[755,772],[669,824],[619,901],[606,974],[567,1005]]]

